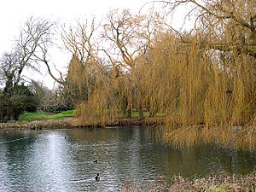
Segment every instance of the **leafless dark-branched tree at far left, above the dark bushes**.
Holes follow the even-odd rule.
[[[42,64],[46,65],[49,75],[58,83],[62,79],[56,79],[51,73],[47,52],[52,44],[55,23],[43,19],[31,17],[26,20],[20,29],[20,36],[16,40],[13,51],[3,55],[1,60],[1,79],[9,85],[19,84],[25,68],[39,72]]]

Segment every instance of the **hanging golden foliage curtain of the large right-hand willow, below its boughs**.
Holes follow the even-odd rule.
[[[150,52],[147,89],[150,106],[166,110],[166,142],[178,147],[198,143],[200,136],[254,148],[255,60],[234,53],[222,58],[220,52],[203,51],[196,39],[189,46],[166,35],[158,40]],[[207,126],[189,126],[200,123]],[[245,128],[232,131],[233,125]]]

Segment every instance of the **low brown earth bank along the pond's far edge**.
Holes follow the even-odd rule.
[[[85,125],[79,125],[76,123],[76,119],[59,119],[59,120],[38,120],[32,122],[9,122],[0,123],[0,129],[31,129],[31,130],[50,130],[50,129],[72,129],[76,127],[84,128],[105,128],[108,126],[135,126],[135,125],[163,125],[165,119],[119,119],[115,121],[98,121],[88,123]]]

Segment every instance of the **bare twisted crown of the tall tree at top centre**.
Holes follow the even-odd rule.
[[[103,25],[102,38],[108,48],[102,49],[113,65],[134,69],[139,55],[145,55],[156,31],[156,17],[132,15],[131,11],[112,10]]]

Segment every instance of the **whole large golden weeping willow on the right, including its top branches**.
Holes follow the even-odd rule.
[[[170,26],[172,34],[160,35],[151,52],[157,101],[168,114],[166,141],[180,146],[202,137],[255,148],[255,2],[165,3],[172,11],[190,5],[197,16],[192,32]]]

